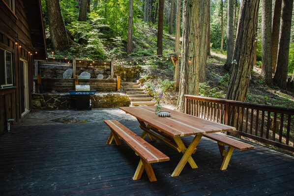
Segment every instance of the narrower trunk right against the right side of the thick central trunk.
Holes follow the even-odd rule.
[[[207,42],[208,42],[208,1],[200,0],[200,8],[199,8],[199,20],[201,23],[199,24],[199,82],[205,83],[206,81],[206,59],[207,59]]]

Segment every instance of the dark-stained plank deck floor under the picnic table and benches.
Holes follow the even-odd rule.
[[[141,133],[137,121],[121,123]],[[235,151],[221,171],[217,143],[206,138],[192,155],[199,168],[187,165],[178,177],[171,172],[181,154],[152,142],[170,161],[153,164],[156,182],[145,173],[134,181],[139,157],[124,142],[106,145],[109,133],[102,121],[14,127],[0,137],[0,195],[294,195],[294,157],[255,145]]]

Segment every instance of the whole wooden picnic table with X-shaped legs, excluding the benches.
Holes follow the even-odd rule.
[[[162,140],[176,151],[183,153],[172,176],[178,176],[187,162],[191,168],[198,168],[191,155],[195,153],[196,146],[204,134],[235,130],[228,125],[167,108],[162,108],[162,111],[171,112],[171,117],[159,117],[155,114],[154,106],[120,107],[119,109],[137,118],[143,130],[141,138],[148,136],[150,140],[154,138]],[[191,143],[186,144],[182,141],[182,138],[186,136],[195,137]]]

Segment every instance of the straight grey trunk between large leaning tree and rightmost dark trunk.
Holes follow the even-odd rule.
[[[271,85],[272,63],[271,63],[271,0],[263,0],[263,22],[262,22],[262,76],[265,84]]]

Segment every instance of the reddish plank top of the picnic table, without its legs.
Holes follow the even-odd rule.
[[[172,111],[166,108],[162,108],[162,110],[171,112],[171,117],[159,117],[155,114],[155,107],[150,106],[120,107],[120,109],[172,137],[235,130],[235,128],[231,126],[216,123],[182,112]]]

